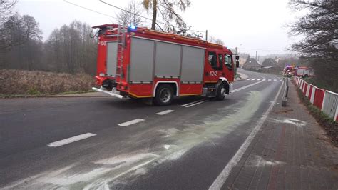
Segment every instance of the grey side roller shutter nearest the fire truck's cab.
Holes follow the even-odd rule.
[[[181,81],[197,82],[203,81],[205,49],[183,46]]]

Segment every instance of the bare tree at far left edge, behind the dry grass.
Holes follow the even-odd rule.
[[[4,22],[0,36],[0,60],[4,69],[36,69],[41,59],[39,23],[28,15],[14,14]]]

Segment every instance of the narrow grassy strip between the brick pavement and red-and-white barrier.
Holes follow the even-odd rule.
[[[295,84],[293,80],[292,83]],[[327,114],[324,114],[322,110],[312,105],[309,99],[302,94],[302,91],[297,87],[297,85],[296,89],[299,99],[305,106],[307,106],[307,109],[309,110],[310,114],[314,116],[314,118],[317,120],[320,126],[324,128],[324,130],[327,133],[327,136],[329,136],[329,139],[331,139],[332,144],[338,147],[338,123],[329,116],[327,116]]]

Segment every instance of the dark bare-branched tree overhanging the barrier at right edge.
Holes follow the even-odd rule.
[[[309,61],[317,80],[338,91],[338,4],[337,1],[290,1],[296,11],[308,14],[290,24],[291,35],[304,38],[292,45],[304,61]]]

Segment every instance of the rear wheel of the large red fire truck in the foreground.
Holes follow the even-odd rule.
[[[173,101],[173,88],[168,84],[158,86],[155,94],[155,103],[159,106],[170,105]]]

